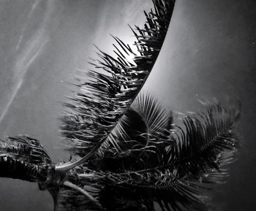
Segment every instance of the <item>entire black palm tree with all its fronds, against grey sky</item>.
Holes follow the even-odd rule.
[[[0,141],[0,177],[37,183],[53,196],[54,210],[206,210],[203,189],[227,175],[222,166],[238,147],[239,109],[208,103],[174,124],[153,96],[138,94],[175,2],[153,3],[144,27],[132,29],[137,51],[113,37],[116,57],[99,50],[89,80],[79,80],[64,103],[71,161],[54,164],[37,139],[8,137]]]

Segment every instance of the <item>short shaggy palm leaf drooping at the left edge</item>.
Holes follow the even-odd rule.
[[[0,140],[0,177],[45,181],[50,157],[37,139],[27,136]]]

